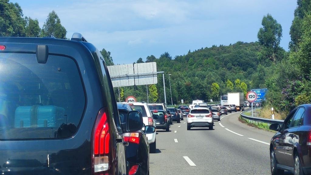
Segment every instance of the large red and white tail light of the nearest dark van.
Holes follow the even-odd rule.
[[[97,114],[92,131],[92,172],[103,174],[111,165],[112,155],[110,131],[108,122],[108,108],[102,108]]]

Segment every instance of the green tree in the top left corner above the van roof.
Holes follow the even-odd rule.
[[[26,21],[18,3],[2,1],[0,12],[0,36],[26,36]]]

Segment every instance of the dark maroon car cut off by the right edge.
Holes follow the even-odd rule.
[[[311,104],[296,107],[283,125],[272,124],[278,131],[271,139],[272,175],[290,171],[295,175],[311,174]]]

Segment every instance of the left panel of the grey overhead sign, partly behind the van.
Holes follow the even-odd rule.
[[[113,87],[134,86],[133,64],[107,66]]]

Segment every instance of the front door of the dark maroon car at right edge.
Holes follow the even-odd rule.
[[[280,133],[278,133],[278,135],[275,136],[275,156],[276,156],[276,160],[279,164],[281,165],[286,165],[286,158],[285,158],[285,153],[284,153],[284,134],[286,134],[287,129],[289,128],[291,121],[294,117],[294,114],[296,112],[296,109],[293,110],[285,119],[283,125],[282,125],[282,129],[280,130]]]

